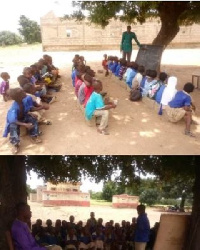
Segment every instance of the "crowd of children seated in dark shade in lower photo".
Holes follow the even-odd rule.
[[[37,243],[43,245],[60,245],[63,249],[91,249],[91,250],[134,250],[136,218],[132,222],[123,220],[114,223],[113,220],[103,225],[103,219],[95,219],[94,212],[90,213],[90,218],[86,224],[82,221],[74,222],[73,215],[69,221],[56,220],[55,226],[52,221],[46,221],[46,227],[42,226],[42,220],[38,219],[32,225],[32,235]],[[159,224],[150,230],[147,249],[153,249]]]

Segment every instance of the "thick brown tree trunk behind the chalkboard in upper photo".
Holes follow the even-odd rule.
[[[179,17],[187,10],[188,2],[161,2],[158,7],[161,19],[161,29],[153,40],[153,45],[167,45],[174,39],[180,30]]]

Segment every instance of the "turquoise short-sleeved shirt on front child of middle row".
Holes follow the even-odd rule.
[[[102,109],[103,107],[104,107],[104,101],[103,101],[102,95],[97,92],[93,92],[85,107],[86,118],[88,120],[91,120],[94,114],[94,111],[96,109]]]

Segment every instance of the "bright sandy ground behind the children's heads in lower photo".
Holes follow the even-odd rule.
[[[137,217],[136,209],[123,208],[117,209],[111,206],[90,206],[90,207],[43,207],[41,203],[29,202],[32,211],[32,223],[37,219],[42,219],[43,224],[47,219],[55,222],[57,219],[69,221],[69,216],[75,216],[75,223],[82,220],[86,223],[90,217],[90,212],[95,212],[95,217],[103,218],[103,223],[109,220],[121,223],[122,220],[130,221],[133,217]],[[160,221],[161,212],[153,208],[146,209],[150,225],[153,226],[155,222]]]

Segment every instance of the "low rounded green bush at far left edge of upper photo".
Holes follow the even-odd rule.
[[[14,45],[22,43],[20,36],[11,31],[1,31],[0,32],[0,45]]]

